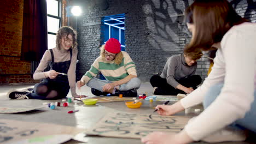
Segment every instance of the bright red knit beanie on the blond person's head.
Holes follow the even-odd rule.
[[[117,39],[110,38],[105,44],[105,50],[111,53],[119,53],[121,51],[121,44]]]

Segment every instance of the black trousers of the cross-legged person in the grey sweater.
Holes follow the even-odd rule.
[[[179,84],[183,85],[184,87],[192,87],[193,89],[196,89],[198,85],[202,82],[202,79],[199,75],[192,75],[188,76],[185,79],[176,80]],[[165,95],[172,95],[172,94],[178,94],[178,93],[185,93],[179,89],[176,89],[169,85],[166,81],[166,79],[163,79],[159,75],[153,75],[150,79],[150,83],[153,87],[158,87],[159,91],[162,91]]]

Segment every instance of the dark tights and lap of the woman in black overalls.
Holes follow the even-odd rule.
[[[28,97],[31,99],[54,100],[66,98],[69,86],[65,88],[63,83],[43,80],[34,85],[34,90]]]

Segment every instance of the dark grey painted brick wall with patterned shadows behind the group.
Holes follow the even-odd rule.
[[[190,0],[109,0],[103,1],[104,5],[89,0],[77,2],[84,10],[78,17],[78,79],[99,55],[101,19],[104,16],[125,13],[125,50],[136,63],[138,76],[144,82],[149,81],[152,75],[160,74],[167,58],[182,53],[191,38],[182,15],[184,8],[193,2]],[[108,8],[103,10],[107,2]],[[255,22],[255,2],[229,2],[238,14]],[[196,74],[205,79],[210,62],[203,56],[197,63]]]

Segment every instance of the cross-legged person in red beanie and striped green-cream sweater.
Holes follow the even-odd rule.
[[[106,80],[96,79],[98,73]],[[121,44],[117,39],[110,38],[102,45],[100,56],[95,59],[90,70],[77,82],[78,87],[85,84],[97,96],[123,94],[124,97],[137,97],[141,80],[137,78],[135,63],[129,54],[121,51]]]

